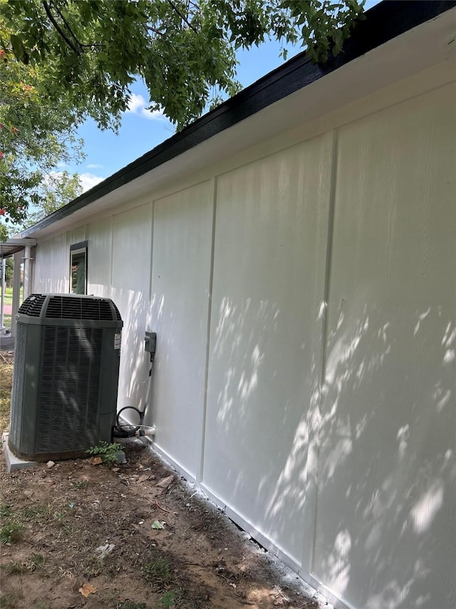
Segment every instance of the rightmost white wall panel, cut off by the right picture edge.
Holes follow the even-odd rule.
[[[455,99],[339,135],[314,571],[356,607],[456,603]]]

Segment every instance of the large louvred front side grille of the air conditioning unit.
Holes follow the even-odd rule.
[[[37,454],[97,442],[102,340],[100,328],[43,327]]]

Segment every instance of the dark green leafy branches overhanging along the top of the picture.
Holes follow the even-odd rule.
[[[239,90],[239,47],[271,36],[301,41],[313,59],[340,51],[356,0],[9,0],[0,42],[24,64],[46,65],[48,95],[116,126],[130,86],[144,79],[151,109],[178,129],[196,119],[214,89]],[[216,101],[219,101],[217,96]]]

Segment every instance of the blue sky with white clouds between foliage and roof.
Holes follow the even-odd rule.
[[[365,8],[374,4],[378,4],[378,0],[368,0]],[[299,46],[288,49],[288,59],[301,51]],[[280,50],[281,45],[274,41],[249,51],[239,51],[237,79],[246,87],[283,64],[284,61],[279,56]],[[111,131],[100,131],[92,120],[86,121],[78,130],[85,142],[86,160],[79,165],[68,164],[61,168],[71,173],[77,171],[84,190],[108,178],[175,133],[172,124],[164,116],[146,110],[149,97],[142,83],[135,83],[132,94],[130,111],[125,112],[117,135]]]

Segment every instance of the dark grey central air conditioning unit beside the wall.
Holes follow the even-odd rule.
[[[32,294],[16,318],[11,451],[73,458],[112,442],[123,326],[113,301]]]

